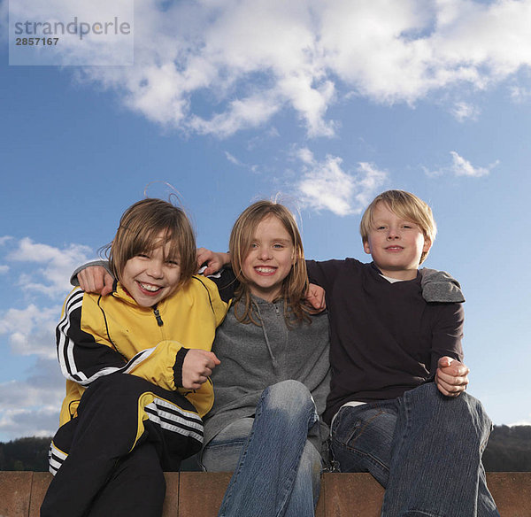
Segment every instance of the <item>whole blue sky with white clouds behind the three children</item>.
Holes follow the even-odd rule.
[[[5,2],[0,25],[0,440],[57,428],[69,274],[165,182],[222,251],[280,194],[312,259],[369,259],[366,204],[422,197],[426,266],[466,295],[469,391],[531,424],[530,0],[145,0],[134,66],[9,66]]]

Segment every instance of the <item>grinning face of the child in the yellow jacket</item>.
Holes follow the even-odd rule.
[[[164,242],[164,232],[158,235]],[[128,259],[119,281],[141,307],[151,307],[170,296],[179,285],[181,266],[166,242]]]

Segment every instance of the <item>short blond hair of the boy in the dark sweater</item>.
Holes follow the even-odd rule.
[[[422,199],[405,190],[386,190],[374,197],[373,202],[367,206],[359,223],[359,233],[364,243],[368,241],[369,232],[373,226],[374,209],[380,202],[385,203],[389,210],[401,219],[415,223],[424,234],[424,238],[434,243],[437,225],[431,208]],[[422,252],[419,265],[427,258],[428,252],[429,250]]]

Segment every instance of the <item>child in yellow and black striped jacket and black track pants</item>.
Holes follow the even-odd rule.
[[[58,324],[66,397],[42,517],[159,516],[163,471],[203,442],[219,364],[212,341],[227,301],[194,275],[185,213],[159,199],[129,207],[110,265],[112,296],[73,289]]]

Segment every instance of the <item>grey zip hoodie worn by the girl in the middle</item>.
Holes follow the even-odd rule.
[[[283,300],[270,303],[252,297],[252,302],[260,327],[240,323],[232,307],[216,332],[212,351],[221,364],[212,372],[214,405],[204,418],[204,444],[228,424],[253,416],[262,391],[276,382],[302,382],[312,393],[319,416],[325,410],[330,390],[327,313],[289,327]],[[321,423],[320,429],[312,430],[310,440],[320,451],[320,436],[328,436],[327,426]]]

